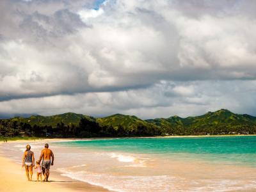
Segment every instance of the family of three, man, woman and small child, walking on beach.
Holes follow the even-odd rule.
[[[35,157],[34,152],[32,152],[30,145],[26,145],[26,151],[24,152],[22,158],[22,168],[25,166],[26,175],[28,180],[32,180],[33,175],[33,167],[37,170],[37,180],[40,177],[42,181],[42,174],[44,175],[44,181],[48,181],[50,174],[50,166],[53,165],[54,162],[54,154],[51,149],[49,149],[49,145],[45,143],[44,149],[41,152],[40,159],[36,161],[35,166]],[[40,166],[40,162],[42,161],[42,168]]]

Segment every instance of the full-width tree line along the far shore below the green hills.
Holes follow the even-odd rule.
[[[0,120],[0,136],[36,136],[54,138],[86,138],[86,137],[122,137],[122,136],[164,136],[164,135],[193,135],[193,134],[228,134],[228,133],[256,133],[256,125],[230,125],[207,124],[196,126],[173,125],[169,127],[156,126],[154,124],[134,125],[125,128],[122,125],[99,125],[95,120],[81,118],[79,124],[66,125],[63,122],[55,127],[30,125],[13,120]]]

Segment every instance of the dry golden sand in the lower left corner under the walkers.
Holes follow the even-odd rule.
[[[17,141],[15,141],[17,142]],[[26,142],[26,141],[19,141]],[[28,141],[27,141],[28,142]],[[31,143],[33,141],[29,141]],[[3,146],[3,145],[2,145]],[[33,171],[33,180],[29,182],[26,177],[25,168],[21,164],[14,163],[11,159],[0,156],[0,191],[1,192],[45,192],[45,191],[108,191],[99,186],[93,186],[86,182],[80,182],[68,177],[63,177],[59,173],[51,172],[50,182],[36,182],[36,172]],[[53,169],[52,169],[53,170]],[[44,179],[44,177],[43,177]]]

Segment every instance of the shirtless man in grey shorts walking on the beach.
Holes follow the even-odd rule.
[[[41,152],[39,163],[41,162],[42,159],[43,159],[42,171],[44,174],[44,181],[48,181],[49,174],[50,174],[50,166],[53,165],[54,155],[52,153],[52,150],[49,149],[49,145],[47,143],[45,143],[44,149]]]

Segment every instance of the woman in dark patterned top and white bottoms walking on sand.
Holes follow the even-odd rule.
[[[24,152],[23,159],[22,159],[22,168],[23,166],[25,166],[28,180],[32,180],[33,166],[35,166],[34,153],[30,150],[30,148],[31,148],[30,145],[26,145],[26,151]]]

